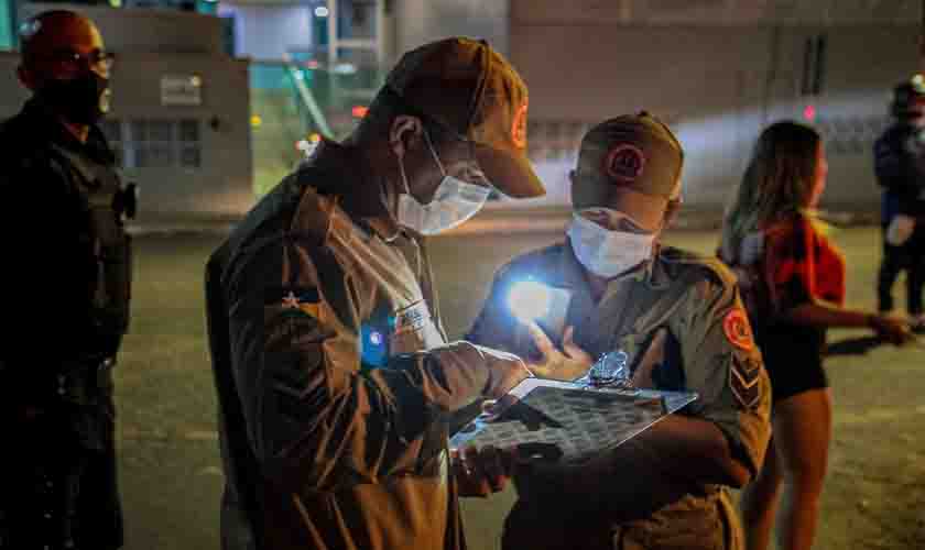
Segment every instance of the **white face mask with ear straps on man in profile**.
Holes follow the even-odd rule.
[[[457,177],[447,175],[426,132],[424,133],[424,139],[427,141],[427,147],[431,150],[431,154],[434,155],[437,166],[440,167],[444,178],[440,185],[437,186],[437,190],[434,193],[434,198],[431,202],[422,205],[411,195],[404,166],[399,161],[405,193],[399,196],[399,211],[396,217],[399,223],[402,226],[411,228],[424,235],[433,235],[447,229],[453,229],[478,213],[488,200],[488,196],[491,195],[491,189],[480,185],[468,184]]]

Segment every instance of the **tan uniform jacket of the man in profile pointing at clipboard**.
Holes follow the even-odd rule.
[[[352,155],[323,144],[207,267],[228,550],[465,547],[446,420],[496,381],[415,241],[348,213],[380,189]]]

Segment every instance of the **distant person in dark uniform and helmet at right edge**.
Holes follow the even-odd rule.
[[[883,260],[877,278],[880,311],[893,309],[893,284],[906,272],[906,310],[925,332],[925,81],[922,75],[893,89],[893,124],[873,145],[877,182],[883,188]]]

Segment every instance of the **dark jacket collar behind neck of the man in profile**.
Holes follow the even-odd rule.
[[[313,182],[320,195],[327,195],[352,220],[376,232],[387,242],[403,233],[392,212],[385,207],[380,179],[360,152],[352,146],[337,142],[322,141],[312,156],[305,161],[307,168],[325,174],[322,182]]]

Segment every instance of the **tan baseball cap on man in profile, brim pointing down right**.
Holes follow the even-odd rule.
[[[487,42],[453,37],[412,50],[385,86],[472,142],[479,167],[498,190],[514,198],[545,195],[526,157],[526,86]]]

